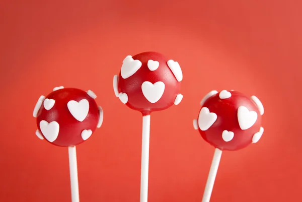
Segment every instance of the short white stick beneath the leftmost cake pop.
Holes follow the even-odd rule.
[[[77,165],[77,151],[74,147],[68,147],[69,155],[69,171],[70,171],[70,185],[71,185],[71,202],[79,202],[79,180],[78,180],[78,165]]]

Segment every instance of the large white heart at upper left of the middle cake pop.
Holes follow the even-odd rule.
[[[123,79],[127,79],[134,75],[141,67],[141,61],[133,59],[132,56],[128,55],[122,64],[121,76]]]

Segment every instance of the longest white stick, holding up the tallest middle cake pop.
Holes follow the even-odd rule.
[[[148,201],[150,115],[142,117],[142,145],[140,170],[140,202]]]

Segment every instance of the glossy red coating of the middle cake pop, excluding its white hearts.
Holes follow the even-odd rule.
[[[118,91],[128,95],[126,105],[131,109],[140,111],[143,115],[148,115],[153,111],[160,111],[171,107],[174,104],[176,96],[180,93],[180,83],[170,70],[167,61],[175,58],[167,58],[158,52],[143,52],[132,56],[132,58],[141,61],[141,68],[131,77],[123,79],[121,73],[118,76]],[[150,71],[147,67],[149,59],[159,61],[159,68]],[[143,95],[141,85],[143,82],[151,83],[164,82],[165,91],[161,99],[156,103],[150,103]]]

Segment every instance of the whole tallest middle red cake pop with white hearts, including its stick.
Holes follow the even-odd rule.
[[[147,201],[150,113],[178,105],[183,74],[177,61],[158,52],[128,55],[113,78],[116,97],[142,113],[140,202]]]

